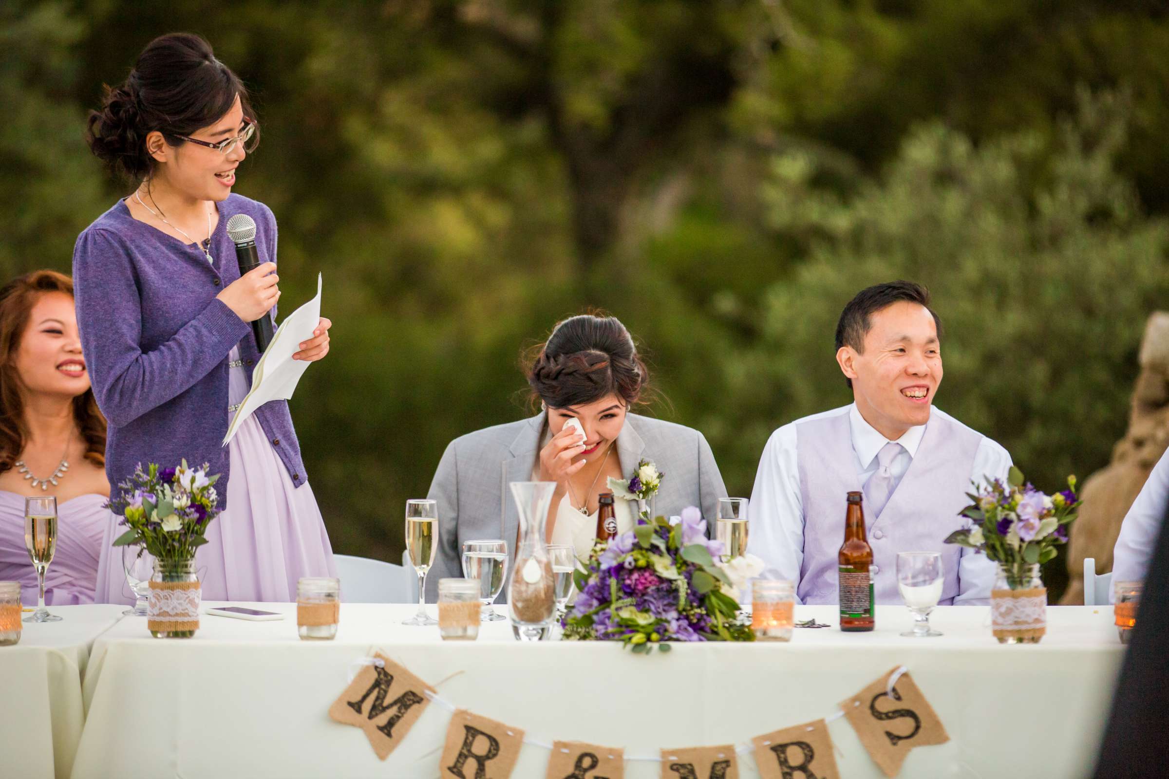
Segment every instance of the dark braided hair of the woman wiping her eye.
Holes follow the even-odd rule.
[[[532,402],[563,409],[616,395],[627,406],[645,396],[649,371],[616,317],[582,314],[556,325],[527,360]]]

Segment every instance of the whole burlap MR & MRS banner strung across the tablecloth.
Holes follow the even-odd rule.
[[[444,779],[509,779],[524,747],[524,731],[466,709],[456,709],[421,679],[386,655],[367,665],[328,715],[361,728],[378,757],[385,760],[401,744],[431,700],[454,711],[440,758]],[[374,665],[376,663],[376,665]],[[890,683],[892,681],[892,684]],[[887,700],[886,700],[887,698]],[[946,729],[904,667],[894,668],[839,704],[860,743],[887,777],[897,775],[915,746],[945,744]],[[750,739],[762,779],[839,779],[835,746],[825,719],[791,725]],[[624,779],[624,750],[584,742],[539,739],[551,749],[545,779]],[[746,750],[746,747],[743,747]],[[662,779],[739,779],[734,744],[660,750]]]

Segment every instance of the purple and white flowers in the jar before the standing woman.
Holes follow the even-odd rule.
[[[177,468],[159,468],[152,462],[145,471],[139,464],[106,505],[129,528],[113,545],[140,544],[164,562],[192,559],[220,513],[216,481],[219,474],[208,477],[206,464],[191,468],[182,460]]]

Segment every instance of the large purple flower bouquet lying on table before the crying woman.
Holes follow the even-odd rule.
[[[561,621],[565,639],[622,641],[636,653],[667,652],[667,641],[753,641],[715,563],[722,551],[694,507],[677,524],[659,516],[595,544],[573,575],[579,594]]]

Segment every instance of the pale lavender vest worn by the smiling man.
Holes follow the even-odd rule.
[[[899,551],[940,551],[946,584],[939,601],[959,594],[961,547],[943,544],[966,520],[957,514],[968,503],[970,472],[982,434],[938,413],[929,423],[909,468],[877,516],[865,510],[865,530],[873,549],[874,597],[879,604],[900,604],[897,589]],[[796,594],[805,604],[835,604],[837,552],[844,541],[845,493],[862,488],[852,451],[848,413],[810,419],[796,426],[800,492],[804,514],[804,557]]]

